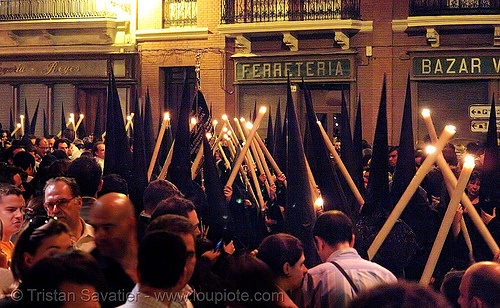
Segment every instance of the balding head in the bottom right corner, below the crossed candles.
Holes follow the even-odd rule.
[[[483,261],[471,265],[462,277],[458,302],[462,308],[473,307],[474,303],[500,307],[500,263]]]

